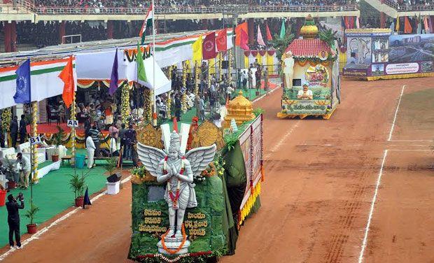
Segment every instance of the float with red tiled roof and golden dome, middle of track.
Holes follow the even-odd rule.
[[[284,89],[279,118],[328,120],[340,103],[339,59],[331,31],[320,32],[309,15],[282,55]]]

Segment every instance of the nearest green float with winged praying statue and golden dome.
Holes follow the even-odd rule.
[[[137,129],[142,166],[132,170],[132,242],[137,262],[207,262],[233,255],[244,220],[260,207],[262,114],[241,94],[234,129],[212,122]]]

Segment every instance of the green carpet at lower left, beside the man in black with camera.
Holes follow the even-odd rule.
[[[46,166],[51,162],[45,162],[41,166]],[[100,162],[103,164],[104,162]],[[40,166],[40,167],[41,167]],[[88,169],[77,169],[78,173],[87,172]],[[89,187],[89,194],[101,191],[106,185],[105,170],[100,165],[92,169],[86,177],[86,184]],[[39,180],[39,183],[33,186],[33,201],[41,210],[36,214],[35,222],[40,224],[50,220],[55,215],[62,213],[67,208],[73,206],[74,195],[69,188],[69,175],[73,174],[73,169],[67,166],[62,166],[57,171],[50,171],[48,175]],[[27,232],[26,225],[29,220],[25,217],[25,211],[30,206],[30,187],[27,190],[15,189],[8,194],[13,194],[15,197],[19,192],[22,192],[25,197],[25,208],[20,209],[20,231],[22,234]],[[7,197],[6,197],[7,198]],[[6,206],[0,206],[0,246],[6,246],[8,241],[8,212]]]

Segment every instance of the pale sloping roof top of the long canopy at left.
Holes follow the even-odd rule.
[[[174,38],[183,38],[188,36],[194,36],[197,34],[203,34],[204,32],[207,31],[200,30],[172,34],[158,34],[157,36],[155,36],[155,43],[169,41]],[[149,45],[152,42],[151,39],[151,37],[148,37],[145,45]],[[105,52],[116,50],[116,48],[119,48],[120,50],[132,49],[137,47],[137,42],[139,41],[141,41],[141,38],[139,37],[108,39],[103,41],[89,41],[72,44],[53,45],[37,50],[0,53],[0,68],[4,66],[15,66],[23,62],[25,59],[31,59],[32,62],[36,62],[43,60],[59,59],[77,53]]]

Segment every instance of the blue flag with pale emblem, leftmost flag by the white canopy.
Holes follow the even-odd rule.
[[[29,104],[31,102],[30,59],[27,59],[15,73],[17,74],[17,90],[13,99],[16,104]]]

